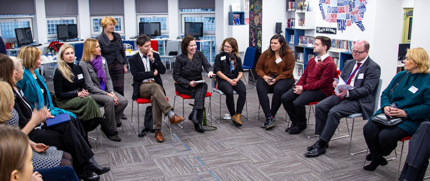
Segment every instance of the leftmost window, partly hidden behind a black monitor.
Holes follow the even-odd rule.
[[[4,42],[14,42],[16,41],[15,28],[31,28],[31,33],[33,32],[33,25],[31,23],[31,18],[0,18],[0,36]],[[34,35],[33,35],[34,38]]]

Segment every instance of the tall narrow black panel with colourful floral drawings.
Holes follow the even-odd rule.
[[[249,81],[257,83],[257,74],[255,73],[255,65],[261,54],[261,17],[262,17],[262,0],[249,0],[249,47],[255,47],[257,53],[254,59],[252,69],[253,76],[249,76]]]

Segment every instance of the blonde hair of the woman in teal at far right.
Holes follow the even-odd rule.
[[[408,49],[408,59],[412,59],[418,65],[419,74],[428,74],[430,67],[429,54],[424,48],[411,48]]]

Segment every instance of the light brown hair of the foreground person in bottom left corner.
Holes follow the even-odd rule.
[[[0,125],[0,178],[10,181],[12,172],[23,172],[27,163],[28,136],[12,126]]]

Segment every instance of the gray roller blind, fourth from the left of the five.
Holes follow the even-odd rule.
[[[168,0],[135,0],[136,13],[168,13]]]

